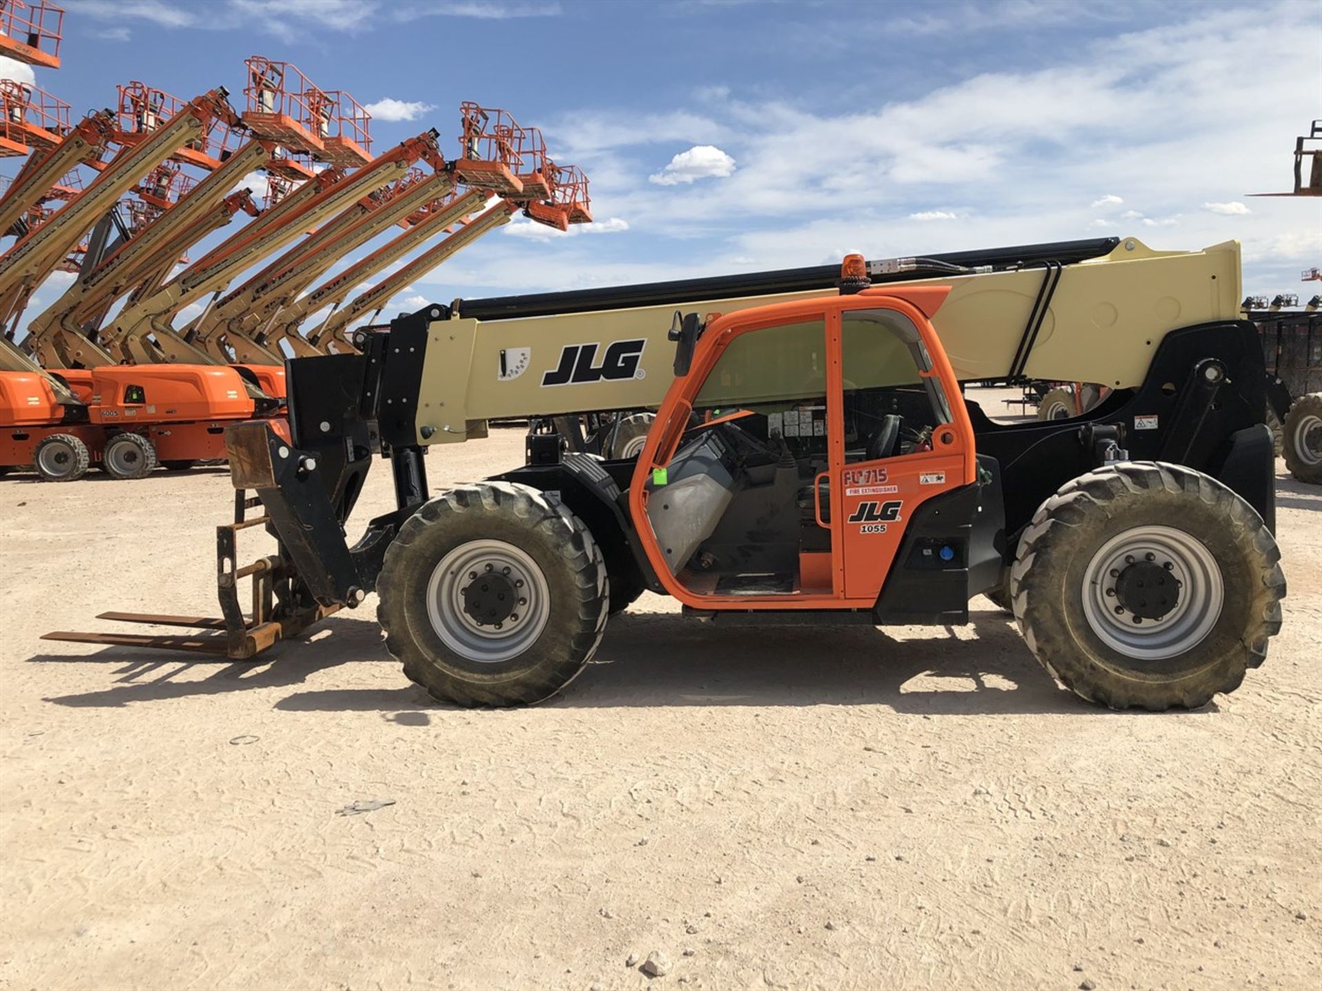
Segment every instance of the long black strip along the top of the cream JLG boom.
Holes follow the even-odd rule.
[[[992,266],[1071,264],[1089,258],[1100,258],[1114,250],[1120,238],[1092,238],[1088,240],[1058,240],[1047,244],[1021,244],[1017,247],[985,248],[980,251],[951,251],[924,255],[935,262],[976,268]],[[894,272],[871,275],[873,285],[892,281],[912,281],[929,272]],[[570,292],[541,292],[525,296],[492,296],[485,300],[456,300],[455,308],[473,320],[512,320],[516,317],[545,317],[558,313],[590,313],[599,309],[629,307],[681,305],[699,300],[727,300],[739,296],[769,296],[785,292],[832,289],[839,281],[839,266],[810,266],[806,268],[779,268],[771,272],[720,275],[710,279],[676,279],[665,283],[611,285],[602,289],[574,289]]]

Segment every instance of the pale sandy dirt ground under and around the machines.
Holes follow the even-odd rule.
[[[432,485],[521,451],[435,451]],[[1167,715],[1079,702],[981,599],[758,636],[648,595],[496,712],[431,704],[373,599],[260,662],[42,642],[214,613],[231,490],[30,478],[0,480],[3,988],[639,988],[653,950],[706,988],[1322,979],[1322,490],[1284,474],[1285,629]],[[378,464],[360,519],[390,498]]]

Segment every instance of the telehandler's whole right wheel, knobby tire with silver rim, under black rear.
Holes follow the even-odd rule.
[[[1010,593],[1030,650],[1075,694],[1110,708],[1198,708],[1266,657],[1281,629],[1280,559],[1261,517],[1224,485],[1133,461],[1042,503]]]

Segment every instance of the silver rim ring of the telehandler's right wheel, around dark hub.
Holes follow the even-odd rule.
[[[1142,560],[1174,576],[1179,600],[1165,616],[1136,622],[1117,603],[1114,588],[1116,576]],[[1092,632],[1112,650],[1140,661],[1165,661],[1196,647],[1212,632],[1224,601],[1216,558],[1202,540],[1169,526],[1125,530],[1107,540],[1084,571],[1083,612]]]

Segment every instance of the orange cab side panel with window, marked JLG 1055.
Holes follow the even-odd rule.
[[[915,320],[880,305],[833,316],[829,334],[839,344],[838,414],[832,419],[841,445],[830,486],[837,577],[846,599],[875,600],[914,511],[973,481],[965,477],[972,440],[966,424],[954,422],[949,390],[957,386],[949,366],[943,382]],[[953,400],[960,402],[957,394]],[[962,546],[925,551],[966,554]]]

